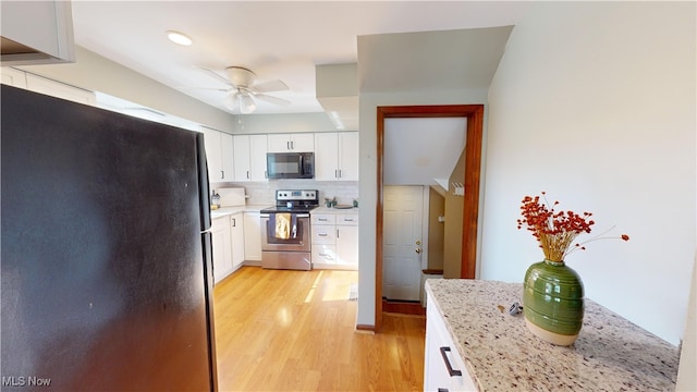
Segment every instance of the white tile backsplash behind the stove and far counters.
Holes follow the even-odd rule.
[[[318,189],[319,203],[325,198],[337,198],[338,204],[352,204],[358,199],[357,181],[313,181],[313,180],[274,180],[268,182],[245,182],[245,183],[213,183],[211,189],[221,187],[244,187],[245,194],[249,197],[247,205],[269,205],[276,204],[276,189]]]

